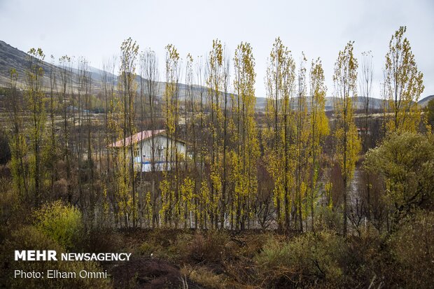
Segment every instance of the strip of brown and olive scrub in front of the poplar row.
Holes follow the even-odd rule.
[[[433,218],[433,213],[420,213],[387,237],[371,231],[344,238],[321,224],[318,232],[291,235],[164,229],[80,235],[73,252],[134,256],[129,262],[102,265],[13,262],[9,252],[17,246],[62,252],[47,235],[22,227],[3,245],[3,272],[10,272],[6,264],[28,271],[106,269],[110,279],[8,279],[6,274],[1,282],[6,288],[429,288]]]

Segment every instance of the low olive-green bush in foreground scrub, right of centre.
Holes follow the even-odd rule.
[[[341,262],[344,238],[334,232],[305,233],[289,241],[271,237],[255,260],[269,286],[338,286],[344,278]]]

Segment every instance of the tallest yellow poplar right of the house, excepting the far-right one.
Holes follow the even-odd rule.
[[[274,204],[279,230],[288,230],[291,215],[290,183],[293,181],[293,164],[290,162],[290,98],[295,89],[295,62],[290,50],[280,38],[274,41],[267,66],[267,118],[270,126],[266,132],[269,149],[266,152],[267,170],[274,181]]]

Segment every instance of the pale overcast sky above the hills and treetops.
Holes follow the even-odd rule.
[[[212,40],[226,44],[231,57],[241,42],[251,43],[255,56],[256,96],[265,97],[265,69],[274,38],[280,36],[297,64],[321,57],[328,96],[339,50],[355,41],[356,57],[374,55],[374,94],[379,92],[384,56],[391,35],[407,26],[425,91],[434,94],[434,1],[129,1],[0,0],[0,40],[26,51],[43,48],[45,55],[84,56],[101,68],[104,57],[118,54],[131,36],[140,49],[152,48],[161,69],[165,45],[181,57],[206,55]],[[1,55],[0,55],[1,57]],[[164,75],[160,72],[160,76]]]

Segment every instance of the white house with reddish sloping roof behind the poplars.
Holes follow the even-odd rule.
[[[172,158],[172,151],[177,152],[182,158],[186,156],[187,150],[184,141],[174,141],[174,139],[167,137],[165,132],[165,129],[144,130],[133,136],[128,136],[125,141],[123,139],[116,141],[110,147],[122,148],[123,146],[130,146],[132,143],[134,145],[134,167],[137,171],[152,171],[153,164],[155,165],[155,171],[163,171],[166,167],[167,169],[172,167],[170,161],[174,161],[175,158]],[[154,151],[154,160],[152,151]],[[130,150],[128,150],[128,153],[130,153]],[[166,162],[167,153],[169,156],[168,162]]]

